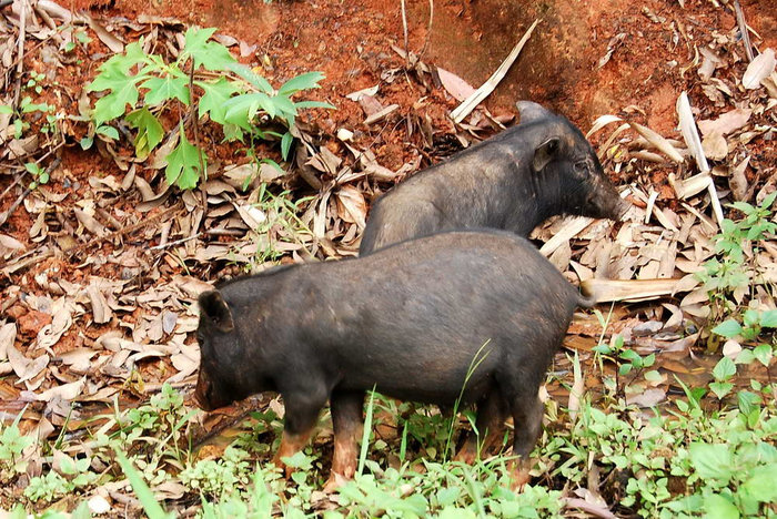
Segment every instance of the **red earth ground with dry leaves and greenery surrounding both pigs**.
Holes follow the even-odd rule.
[[[0,510],[777,513],[765,484],[777,479],[777,8],[593,3],[0,1]],[[454,122],[537,19],[494,92]],[[140,88],[152,110],[122,91],[140,115],[105,115],[100,100],[127,83],[111,73],[138,69],[104,63],[140,50],[168,74]],[[256,77],[278,89],[272,106],[228,140],[233,105],[208,89],[244,80],[252,95]],[[170,96],[154,104],[152,91]],[[557,218],[533,235],[599,305],[576,314],[548,375],[532,486],[509,490],[508,449],[448,460],[465,415],[375,396],[362,476],[326,495],[327,414],[286,481],[266,462],[274,395],[196,410],[201,292],[356,255],[375,196],[516,123],[518,99],[587,133],[632,203],[623,222]],[[296,116],[269,113],[300,102]]]

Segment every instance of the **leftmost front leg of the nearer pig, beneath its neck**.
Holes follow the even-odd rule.
[[[273,458],[273,464],[283,468],[286,477],[294,471],[282,458],[295,455],[307,444],[319,421],[319,413],[326,405],[326,389],[322,387],[300,388],[281,391],[285,417],[281,446]]]

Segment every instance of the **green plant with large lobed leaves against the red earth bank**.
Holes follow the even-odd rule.
[[[167,157],[165,177],[169,184],[181,189],[192,189],[204,177],[208,157],[196,143],[196,128],[205,115],[222,126],[229,141],[280,139],[285,160],[293,139],[291,131],[281,134],[268,129],[270,123],[279,121],[291,129],[300,109],[333,108],[329,103],[292,100],[297,92],[317,88],[323,79],[320,72],[299,75],[274,90],[264,78],[238,63],[224,45],[209,41],[214,32],[213,28],[190,28],[182,51],[171,63],[159,54],[144,52],[142,39],[130,43],[124,53],[102,63],[100,73],[87,86],[91,92],[108,91],[94,104],[94,133],[118,139],[118,133],[105,130],[105,124],[124,118],[137,130],[133,144],[140,159],[147,157],[164,138],[160,114],[173,114],[178,122],[169,140],[170,146],[175,142],[178,145]],[[125,115],[127,105],[131,112]],[[174,112],[176,105],[196,108],[188,121],[193,125],[194,144],[186,138],[181,111]],[[82,146],[91,146],[92,139],[85,138]]]

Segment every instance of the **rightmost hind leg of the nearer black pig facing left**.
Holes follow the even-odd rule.
[[[513,440],[513,455],[518,459],[513,468],[513,489],[521,490],[526,485],[531,476],[532,468],[529,455],[537,442],[543,423],[543,403],[534,391],[533,397],[518,396],[512,399],[513,421],[515,425],[515,437]]]

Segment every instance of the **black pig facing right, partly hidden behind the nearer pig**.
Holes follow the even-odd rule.
[[[528,236],[556,214],[619,220],[627,204],[583,133],[529,101],[521,124],[420,172],[381,196],[360,255],[441,231],[493,227]]]

